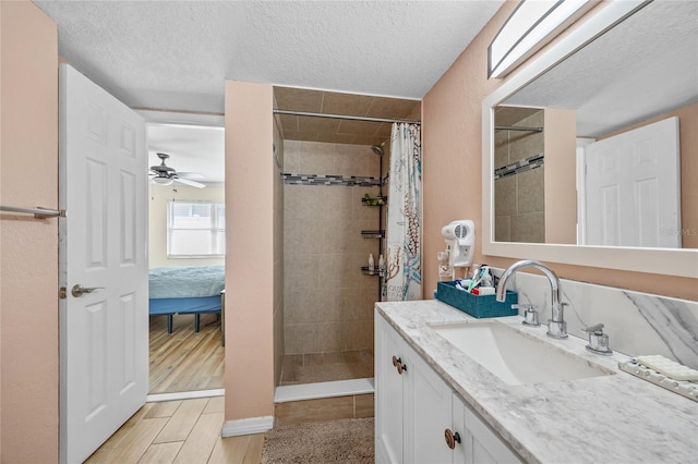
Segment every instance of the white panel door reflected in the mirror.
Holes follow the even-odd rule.
[[[678,118],[586,147],[588,245],[681,247]]]

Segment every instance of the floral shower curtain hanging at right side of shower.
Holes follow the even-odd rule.
[[[394,123],[387,209],[388,302],[422,298],[422,144],[418,124]]]

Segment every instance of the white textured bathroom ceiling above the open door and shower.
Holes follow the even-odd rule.
[[[420,99],[503,1],[35,3],[130,107],[221,113],[225,80]]]

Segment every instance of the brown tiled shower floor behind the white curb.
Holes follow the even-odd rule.
[[[373,377],[373,350],[287,354],[281,386]]]

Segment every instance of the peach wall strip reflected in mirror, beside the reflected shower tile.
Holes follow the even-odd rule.
[[[577,243],[577,115],[545,108],[545,243]]]

